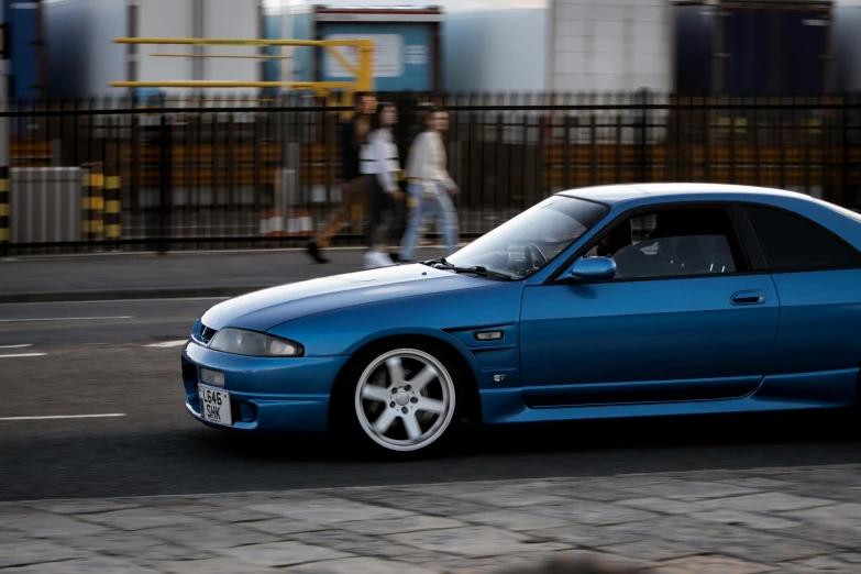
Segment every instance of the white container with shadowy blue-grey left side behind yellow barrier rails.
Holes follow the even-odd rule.
[[[120,89],[109,84],[120,80],[258,81],[262,60],[198,57],[256,55],[256,46],[123,45],[113,38],[256,40],[263,37],[262,10],[260,0],[53,0],[45,4],[53,38],[48,91],[58,97],[115,95]]]

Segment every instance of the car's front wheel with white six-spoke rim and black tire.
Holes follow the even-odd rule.
[[[442,345],[377,345],[345,369],[331,421],[340,444],[411,461],[444,452],[461,422],[460,373]]]

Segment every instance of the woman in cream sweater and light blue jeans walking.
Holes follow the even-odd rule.
[[[409,219],[400,244],[399,258],[412,261],[421,227],[428,216],[441,228],[445,256],[457,250],[457,212],[450,194],[460,189],[446,169],[445,144],[442,135],[449,129],[449,113],[431,108],[424,120],[424,131],[416,137],[407,158],[407,205]]]

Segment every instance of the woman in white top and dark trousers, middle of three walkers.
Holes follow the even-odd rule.
[[[395,201],[402,195],[398,187],[400,172],[398,146],[391,128],[398,121],[394,103],[382,102],[371,120],[371,133],[362,148],[360,167],[367,190],[371,251],[365,253],[365,268],[394,265],[388,255],[395,219]]]

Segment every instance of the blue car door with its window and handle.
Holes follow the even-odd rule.
[[[525,289],[528,406],[742,397],[762,382],[780,303],[727,207],[638,212],[586,256],[611,256],[605,283]]]

